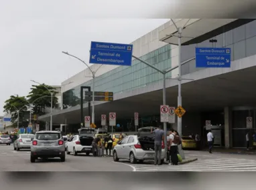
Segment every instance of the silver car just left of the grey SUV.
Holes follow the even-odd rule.
[[[31,138],[34,138],[33,134],[20,134],[13,142],[13,149],[19,151],[19,149],[30,149],[32,144]]]

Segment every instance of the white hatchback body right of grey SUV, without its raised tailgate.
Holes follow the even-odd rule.
[[[74,135],[70,141],[66,143],[66,153],[69,155],[73,153],[76,156],[78,153],[92,153],[93,137]]]

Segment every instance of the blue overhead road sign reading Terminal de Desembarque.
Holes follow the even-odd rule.
[[[90,63],[131,66],[133,45],[92,41]]]

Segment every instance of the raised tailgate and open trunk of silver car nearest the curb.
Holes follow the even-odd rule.
[[[153,127],[153,130],[156,127]],[[151,133],[151,127],[142,127],[138,130],[138,141],[141,144],[141,148],[145,151],[155,149],[155,135]]]

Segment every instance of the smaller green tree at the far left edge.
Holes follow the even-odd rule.
[[[11,95],[9,99],[5,101],[5,105],[3,106],[3,111],[5,113],[11,113],[11,122],[15,123],[17,120],[17,111],[19,110],[19,113],[27,111],[28,107],[27,100],[25,97],[19,97]]]

